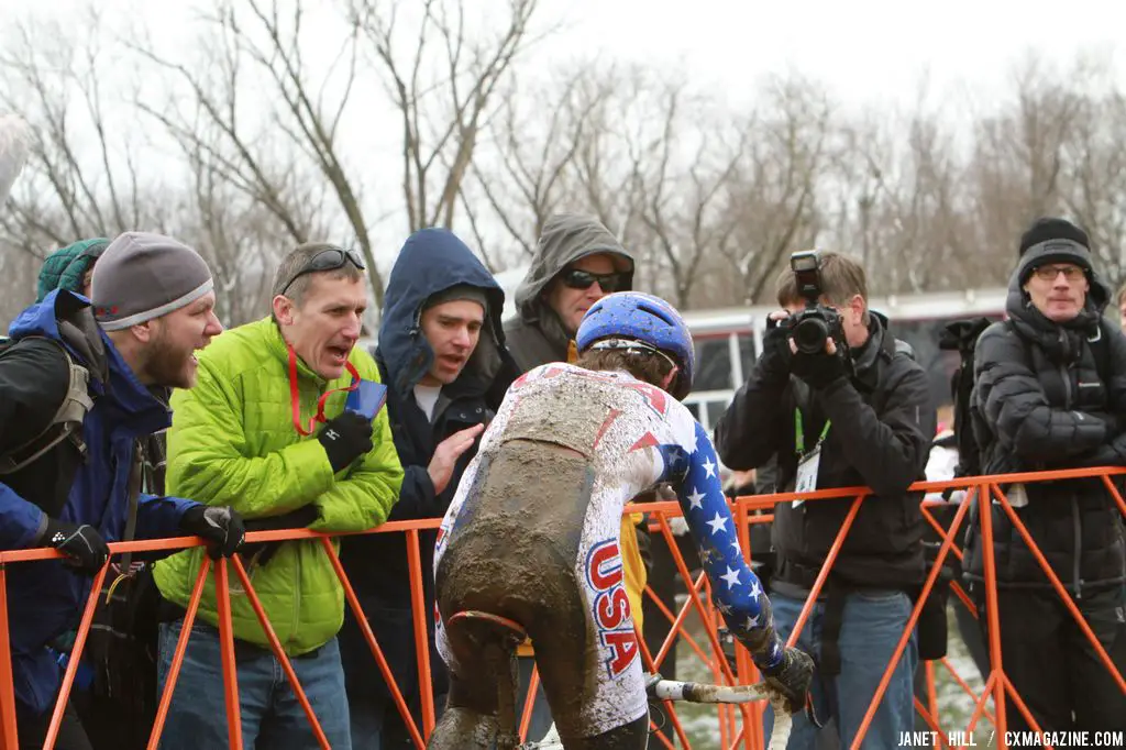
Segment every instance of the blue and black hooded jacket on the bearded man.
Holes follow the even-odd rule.
[[[82,331],[84,339],[72,333]],[[66,346],[77,363],[90,369],[93,407],[82,425],[86,458],[73,481],[53,449],[0,483],[0,547],[35,546],[44,512],[72,524],[95,526],[107,542],[123,538],[129,515],[129,475],[137,441],[171,423],[168,407],[133,375],[113,342],[97,330],[89,302],[55,291],[25,310],[11,324],[12,339],[35,336]],[[27,367],[33,367],[34,377]],[[66,390],[66,360],[50,341],[14,346],[0,359],[0,443],[9,430],[45,426]],[[23,429],[14,437],[21,439]],[[19,439],[16,443],[19,443]],[[62,444],[61,444],[62,445]],[[196,502],[141,494],[135,538],[177,536],[184,512]],[[8,569],[12,670],[16,697],[32,711],[47,709],[59,689],[61,668],[48,644],[78,625],[90,593],[91,578],[73,572],[61,560],[12,564]]]

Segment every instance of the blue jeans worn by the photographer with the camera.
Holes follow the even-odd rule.
[[[794,630],[805,601],[779,593],[770,596],[775,626],[785,641]],[[821,653],[821,632],[825,605],[814,605],[802,628],[797,645],[816,660]],[[814,675],[813,702],[817,716],[833,716],[840,733],[840,745],[848,748],[860,729],[864,715],[879,680],[892,660],[895,645],[911,617],[911,599],[902,591],[867,591],[849,593],[837,643],[841,654],[841,672],[833,678]],[[914,729],[914,693],[912,680],[919,661],[914,633],[892,673],[884,698],[864,735],[866,750],[899,748],[900,733]],[[774,712],[768,708],[763,720],[767,736],[774,726]],[[794,716],[789,750],[814,750],[817,729],[805,717]]]

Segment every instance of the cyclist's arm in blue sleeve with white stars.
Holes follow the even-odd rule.
[[[727,627],[748,648],[760,669],[776,667],[783,659],[783,643],[774,627],[770,600],[743,560],[712,440],[698,422],[695,430],[695,445],[662,452],[663,479],[677,490],[692,541],[712,581],[712,599]],[[670,455],[672,450],[681,455]]]

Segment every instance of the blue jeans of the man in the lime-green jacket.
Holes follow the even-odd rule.
[[[157,679],[161,691],[182,626],[182,619],[160,626]],[[243,747],[270,750],[320,748],[309,718],[289,687],[282,662],[274,653],[235,641],[234,658]],[[345,672],[340,666],[337,640],[332,639],[313,654],[291,658],[289,663],[329,744],[333,750],[350,750]],[[205,623],[197,620],[191,626],[160,747],[164,750],[230,747],[218,631]]]

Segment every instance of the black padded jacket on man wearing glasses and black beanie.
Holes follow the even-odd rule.
[[[1056,324],[1031,305],[1019,269],[1013,274],[1009,320],[982,333],[974,358],[975,434],[986,474],[1126,463],[1126,338],[1102,318],[1109,292],[1092,280],[1085,310]],[[1028,505],[1017,516],[1070,590],[1121,583],[1121,514],[1101,479],[1033,482],[1025,491]],[[972,580],[984,575],[980,507],[966,538]],[[1008,515],[992,508],[999,584],[1051,586]]]

